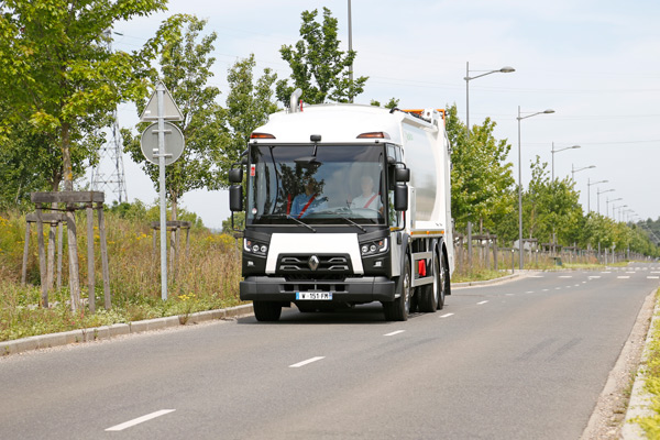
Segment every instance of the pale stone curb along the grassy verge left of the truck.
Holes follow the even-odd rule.
[[[0,355],[16,354],[26,351],[50,349],[53,346],[68,345],[112,339],[122,334],[142,333],[152,330],[162,330],[173,327],[195,324],[205,321],[237,318],[253,314],[252,304],[245,304],[226,309],[198,311],[189,315],[179,315],[165,318],[147,319],[129,323],[114,323],[89,329],[64,331],[61,333],[41,334],[0,342]]]

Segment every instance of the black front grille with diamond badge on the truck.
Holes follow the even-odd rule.
[[[348,254],[283,254],[277,260],[282,275],[349,275],[353,273]]]

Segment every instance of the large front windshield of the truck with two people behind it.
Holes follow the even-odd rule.
[[[371,145],[256,145],[248,224],[385,224],[385,150]]]

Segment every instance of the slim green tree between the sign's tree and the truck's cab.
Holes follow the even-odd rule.
[[[255,79],[254,54],[238,61],[227,76],[229,94],[227,95],[223,113],[223,140],[220,155],[216,163],[222,169],[220,184],[229,186],[227,173],[232,164],[240,161],[241,153],[248,147],[250,134],[268,120],[268,114],[277,111],[274,101],[273,84],[277,79],[271,69],[264,69],[263,75]]]

